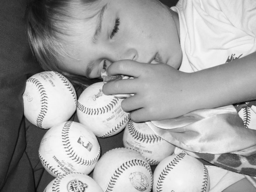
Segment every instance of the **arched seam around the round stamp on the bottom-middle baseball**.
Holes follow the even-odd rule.
[[[116,184],[118,178],[121,176],[121,174],[125,170],[127,170],[130,167],[138,166],[138,165],[145,167],[150,172],[150,177],[151,177],[151,186],[150,186],[150,188],[152,188],[152,185],[153,185],[153,173],[152,173],[152,170],[151,170],[150,166],[148,165],[148,163],[146,163],[145,161],[142,161],[140,159],[132,159],[132,160],[130,160],[128,162],[126,161],[125,163],[123,163],[120,167],[118,167],[115,170],[115,172],[111,176],[111,179],[110,179],[110,181],[108,183],[108,187],[105,190],[105,192],[109,192],[109,191],[113,190],[113,188],[115,187],[115,184]]]

